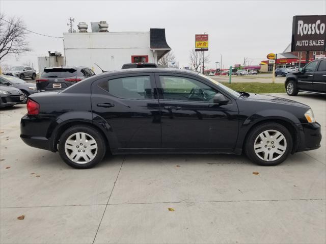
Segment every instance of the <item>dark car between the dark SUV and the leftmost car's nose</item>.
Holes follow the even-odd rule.
[[[22,79],[19,79],[10,75],[0,75],[0,84],[9,85],[15,88],[18,88],[24,97],[22,102],[26,102],[29,95],[36,93],[36,85],[34,83],[25,82]]]

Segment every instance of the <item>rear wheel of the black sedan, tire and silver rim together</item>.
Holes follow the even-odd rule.
[[[79,143],[76,142],[78,139]],[[87,149],[87,147],[91,147],[91,149]],[[83,153],[83,151],[85,153]],[[105,152],[105,141],[101,133],[90,126],[72,126],[65,130],[60,137],[60,156],[66,162],[66,164],[72,168],[92,168],[102,160]]]

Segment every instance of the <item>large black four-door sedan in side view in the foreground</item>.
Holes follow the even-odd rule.
[[[61,92],[37,93],[21,119],[21,139],[59,151],[78,169],[112,154],[246,153],[274,166],[320,147],[320,125],[305,104],[235,92],[185,70],[105,72]]]

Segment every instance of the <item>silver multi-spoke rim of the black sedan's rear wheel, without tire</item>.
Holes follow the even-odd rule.
[[[85,132],[73,133],[65,142],[67,157],[76,164],[87,164],[97,154],[97,143]]]

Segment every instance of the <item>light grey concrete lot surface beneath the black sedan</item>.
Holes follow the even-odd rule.
[[[0,242],[325,243],[326,99],[291,99],[312,107],[323,139],[276,167],[236,155],[107,155],[75,170],[19,139],[25,105],[0,110]]]

